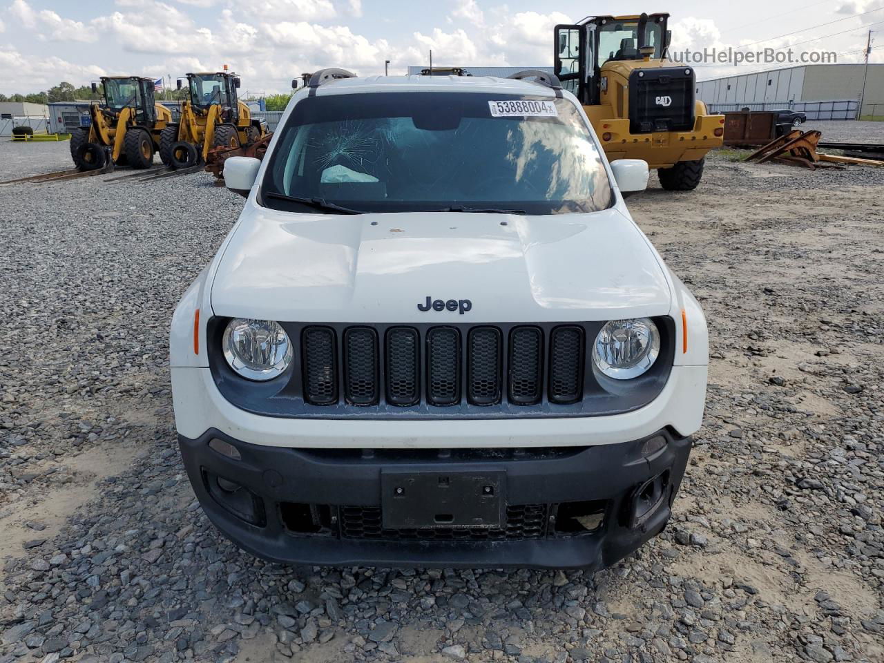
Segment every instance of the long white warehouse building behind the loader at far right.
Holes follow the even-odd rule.
[[[804,110],[808,118],[855,119],[884,115],[884,65],[801,65],[697,82],[697,99],[709,110]]]

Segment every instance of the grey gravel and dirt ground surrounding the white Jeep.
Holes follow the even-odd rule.
[[[0,142],[0,179],[67,165]],[[284,568],[180,465],[166,334],[242,199],[0,187],[0,663],[884,660],[884,170],[713,156],[630,207],[712,364],[674,522],[595,575]]]

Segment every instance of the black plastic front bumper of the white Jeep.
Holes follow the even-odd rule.
[[[670,431],[547,449],[289,449],[213,430],[179,436],[179,445],[203,510],[243,550],[288,564],[378,567],[610,566],[666,526],[690,453],[690,438]],[[385,529],[382,474],[392,471],[502,476],[505,524]],[[598,515],[578,521],[581,509]]]

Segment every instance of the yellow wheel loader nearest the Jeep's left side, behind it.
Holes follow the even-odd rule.
[[[189,168],[204,162],[212,148],[248,147],[266,135],[267,124],[252,118],[248,105],[237,99],[239,87],[240,77],[232,72],[187,74],[190,94],[181,103],[179,123],[160,135],[164,164]]]

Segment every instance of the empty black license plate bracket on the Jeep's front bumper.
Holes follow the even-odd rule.
[[[383,470],[381,521],[386,530],[502,528],[506,472]]]

